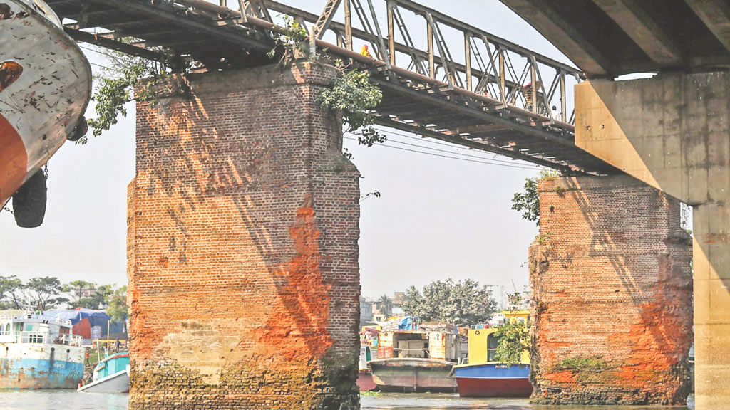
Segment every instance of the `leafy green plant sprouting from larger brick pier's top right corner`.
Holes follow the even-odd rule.
[[[370,82],[370,73],[358,69],[348,69],[342,61],[337,61],[337,69],[342,73],[331,81],[331,88],[322,90],[316,98],[320,107],[342,113],[345,132],[358,136],[361,145],[372,147],[387,139],[374,128],[372,109],[380,104],[383,93]]]

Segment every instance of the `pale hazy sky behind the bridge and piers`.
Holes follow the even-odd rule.
[[[283,2],[317,14],[325,3]],[[498,0],[420,2],[569,63]],[[92,63],[104,64],[98,54],[87,55]],[[134,107],[128,111],[129,117],[121,118],[107,134],[91,137],[85,146],[66,143],[50,160],[48,206],[42,227],[18,228],[11,214],[0,212],[0,275],[126,283],[126,187],[135,172]],[[88,117],[93,117],[92,109]],[[427,151],[398,141],[493,158],[487,153],[428,142],[432,140],[386,134],[391,140],[386,145],[391,147],[364,148],[345,140],[364,177],[362,193],[377,190],[382,194],[361,204],[363,294],[375,298],[449,277],[504,285],[509,290],[512,280],[520,289],[526,285],[524,263],[537,228],[510,209],[510,200],[521,189],[523,179],[533,177],[537,170],[396,150],[392,147]]]

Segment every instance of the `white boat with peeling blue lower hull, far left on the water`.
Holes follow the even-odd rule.
[[[81,340],[68,320],[0,316],[0,390],[76,388],[84,374]]]

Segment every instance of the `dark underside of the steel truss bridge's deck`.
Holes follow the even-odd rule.
[[[199,61],[209,70],[272,63],[266,57],[274,47],[271,31],[243,21],[232,10],[228,15],[212,13],[210,9],[191,7],[194,0],[46,2],[60,18],[68,19],[64,20],[66,32],[75,39],[123,53],[173,66],[182,66],[186,60]],[[333,58],[349,58],[353,66],[371,71],[372,82],[383,90],[383,101],[376,110],[380,125],[567,174],[618,172],[575,147],[572,125],[532,115],[406,69],[386,69],[383,61],[337,45],[327,46],[322,48],[327,48]]]

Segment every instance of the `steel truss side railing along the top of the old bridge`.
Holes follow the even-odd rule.
[[[314,25],[318,39],[323,39],[327,31],[334,33],[338,47],[357,50],[356,40],[369,45],[388,69],[399,66],[445,82],[450,88],[493,98],[505,106],[554,121],[574,122],[566,87],[569,82],[585,80],[579,69],[415,1],[329,0],[320,15],[274,0],[266,0],[265,4],[272,12]],[[334,20],[340,4],[344,23]],[[387,16],[383,24],[387,31],[380,28],[377,19],[377,15],[383,14]],[[355,19],[358,24],[353,23]],[[417,44],[419,36],[412,32],[413,27],[418,27],[418,23],[414,24],[418,19],[426,33],[421,46]],[[454,34],[463,40],[456,42]]]

